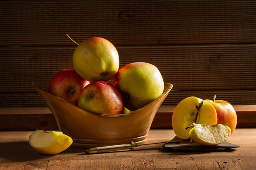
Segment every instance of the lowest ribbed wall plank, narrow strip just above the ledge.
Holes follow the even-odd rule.
[[[189,96],[201,99],[223,99],[232,105],[255,105],[255,90],[214,90],[214,91],[171,91],[162,105],[176,106],[181,100]],[[46,106],[43,99],[36,93],[3,93],[0,94],[1,107],[38,107]]]

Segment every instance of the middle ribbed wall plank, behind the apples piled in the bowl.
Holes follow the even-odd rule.
[[[54,74],[73,68],[75,46],[0,48],[0,92],[47,89]],[[149,62],[174,90],[256,89],[256,44],[117,47],[122,66]]]

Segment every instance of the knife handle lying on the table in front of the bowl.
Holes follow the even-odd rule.
[[[102,146],[102,147],[93,147],[88,150],[85,150],[85,153],[103,153],[103,152],[111,152],[116,150],[126,150],[131,149],[134,150],[135,144],[131,142],[131,144],[118,144],[112,146]]]

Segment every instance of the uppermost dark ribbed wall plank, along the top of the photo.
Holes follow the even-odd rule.
[[[252,0],[0,2],[0,45],[114,45],[256,42]]]

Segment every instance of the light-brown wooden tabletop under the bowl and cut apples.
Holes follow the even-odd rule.
[[[92,169],[92,170],[254,170],[256,169],[256,129],[238,128],[227,142],[240,147],[218,152],[179,152],[161,150],[162,144],[87,155],[84,149],[69,147],[54,156],[37,153],[28,142],[32,131],[0,132],[0,170],[7,169]],[[173,130],[150,130],[148,143],[166,142]]]

